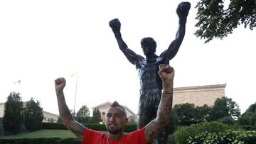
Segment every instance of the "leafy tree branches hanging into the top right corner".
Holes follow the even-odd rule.
[[[224,0],[199,0],[196,9],[199,29],[195,35],[206,39],[205,43],[226,37],[240,24],[249,26],[250,30],[256,26],[255,0],[230,0],[227,9]]]

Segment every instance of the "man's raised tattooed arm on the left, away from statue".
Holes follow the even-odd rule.
[[[84,133],[83,129],[85,128],[82,126],[78,121],[75,121],[70,110],[68,109],[67,104],[65,103],[65,97],[63,93],[63,89],[65,87],[65,79],[58,78],[55,80],[55,91],[58,100],[58,109],[60,113],[60,118],[63,121],[63,125],[68,128],[72,133],[78,136],[78,139],[82,141],[82,135]]]

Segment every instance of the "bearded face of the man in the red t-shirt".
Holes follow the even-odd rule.
[[[127,121],[128,118],[124,116],[121,108],[110,107],[109,109],[107,109],[106,128],[109,133],[122,133],[124,125],[127,123]]]

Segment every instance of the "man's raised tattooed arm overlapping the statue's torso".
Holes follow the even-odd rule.
[[[164,131],[164,128],[170,123],[170,113],[173,100],[173,85],[174,85],[174,68],[169,65],[159,65],[159,76],[162,79],[163,92],[159,108],[156,113],[156,118],[149,122],[144,129],[146,142],[151,142],[154,138]]]

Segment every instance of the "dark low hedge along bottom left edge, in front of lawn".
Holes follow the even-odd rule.
[[[15,138],[15,139],[0,139],[1,144],[80,144],[76,138]]]

